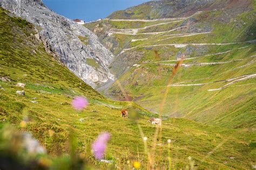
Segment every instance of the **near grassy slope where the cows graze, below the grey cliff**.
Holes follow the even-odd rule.
[[[140,161],[144,169],[147,167],[147,153],[144,152],[145,141],[140,136],[139,125],[143,135],[147,137],[147,152],[152,153],[154,144],[157,144],[157,151],[161,148],[161,158],[159,153],[156,156],[155,166],[158,168],[194,166],[201,169],[249,169],[255,165],[255,133],[251,129],[229,130],[187,119],[165,118],[161,137],[155,143],[156,126],[147,123],[147,120],[156,115],[135,104],[102,97],[44,49],[43,42],[37,38],[36,26],[31,23],[14,17],[2,8],[0,23],[1,158],[4,153],[2,151],[6,149],[2,145],[2,139],[12,135],[10,128],[6,130],[5,125],[11,124],[21,131],[32,132],[33,137],[51,155],[64,154],[61,160],[54,162],[56,166],[51,169],[72,169],[72,164],[64,161],[69,157],[67,152],[70,149],[70,133],[77,138],[78,151],[83,155],[81,158],[86,157],[101,169],[131,169],[135,160]],[[26,85],[22,88],[16,86],[17,83]],[[25,95],[16,94],[17,90],[24,90]],[[85,110],[79,112],[70,105],[77,95],[86,96],[90,103]],[[130,107],[131,118],[120,117],[120,109],[127,107]],[[139,114],[137,124],[132,119],[134,109]],[[95,160],[90,152],[92,141],[103,131],[111,133],[105,159],[113,160],[113,165]],[[171,164],[166,156],[170,149],[167,139],[172,140]],[[14,144],[13,147],[16,148],[16,142],[10,142],[9,147]],[[13,150],[11,151],[7,153],[12,154]],[[188,160],[188,156],[192,159]],[[25,155],[21,154],[19,157]],[[24,160],[31,157],[32,155],[28,155]],[[43,158],[44,166],[51,166],[44,155],[38,155],[35,158],[37,162],[39,158]]]

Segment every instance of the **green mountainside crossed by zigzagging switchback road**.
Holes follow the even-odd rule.
[[[159,7],[174,14],[195,8],[190,15],[169,16],[177,18],[145,20],[142,12],[144,17],[122,19],[114,13],[121,19],[86,24],[117,55],[111,71],[118,81],[100,90],[124,100],[122,85],[126,98],[155,113],[222,127],[255,127],[255,1],[204,1],[211,8],[201,8],[203,1],[190,2]],[[161,108],[167,89],[167,104]]]

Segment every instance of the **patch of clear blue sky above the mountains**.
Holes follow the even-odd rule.
[[[53,11],[70,19],[83,19],[86,22],[105,18],[112,12],[149,0],[43,0]]]

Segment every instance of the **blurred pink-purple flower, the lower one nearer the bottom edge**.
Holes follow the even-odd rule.
[[[107,141],[110,139],[110,133],[102,133],[98,136],[97,140],[93,143],[92,149],[96,159],[103,159],[107,146]]]

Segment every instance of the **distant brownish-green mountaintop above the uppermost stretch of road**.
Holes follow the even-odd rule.
[[[219,10],[219,9],[240,9],[244,10],[250,6],[252,1],[246,0],[160,0],[151,1],[133,6],[126,10],[113,12],[110,19],[157,19],[188,17],[197,11]]]

